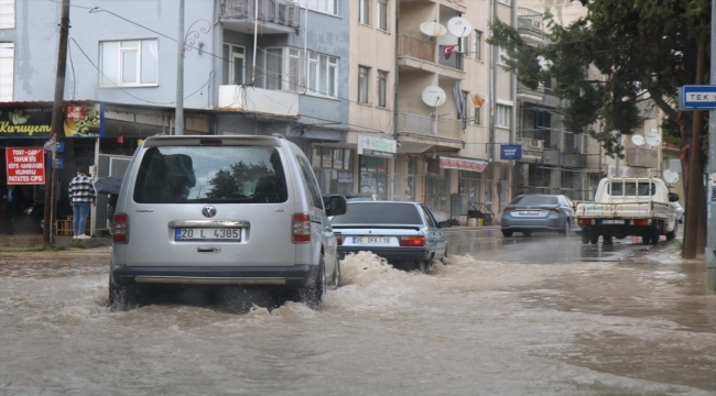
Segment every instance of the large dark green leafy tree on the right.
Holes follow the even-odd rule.
[[[554,77],[555,95],[569,103],[564,109],[566,129],[589,133],[607,155],[623,157],[620,136],[632,134],[639,127],[640,107],[644,106],[657,106],[677,125],[682,145],[692,142],[692,125],[702,124],[701,119],[694,122],[694,116],[703,114],[680,112],[677,94],[683,85],[705,80],[705,76],[697,76],[706,64],[698,51],[708,44],[710,0],[579,1],[586,15],[566,26],[545,14],[550,33],[542,46],[530,46],[499,20],[490,25],[492,37],[487,42],[507,52],[508,67],[525,86],[535,89],[546,76]],[[593,125],[599,117],[604,128],[595,131]],[[703,128],[696,133],[706,134]],[[696,138],[701,143],[691,144],[690,155],[696,155],[698,166],[690,172],[703,175],[704,140]],[[687,186],[687,196],[704,195],[703,184]],[[693,219],[698,221],[686,224],[684,257],[696,253],[696,244],[687,252],[687,240],[706,245],[705,200],[694,206],[687,213],[696,209]],[[697,228],[696,222],[703,224]],[[699,233],[702,226],[704,232]]]

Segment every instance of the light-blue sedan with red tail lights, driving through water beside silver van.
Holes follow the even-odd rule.
[[[430,209],[409,201],[351,201],[333,218],[338,253],[370,251],[393,265],[430,274],[433,260],[447,256],[447,241]]]

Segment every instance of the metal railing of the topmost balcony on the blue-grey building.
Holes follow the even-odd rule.
[[[300,7],[288,0],[221,0],[221,16],[253,20],[257,3],[259,21],[299,28]]]

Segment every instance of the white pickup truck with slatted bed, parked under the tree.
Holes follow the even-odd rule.
[[[670,241],[679,222],[672,204],[679,195],[669,193],[655,177],[607,177],[601,179],[594,202],[574,201],[574,218],[582,227],[582,243],[603,243],[612,238],[641,237],[646,244],[657,244],[661,235]]]

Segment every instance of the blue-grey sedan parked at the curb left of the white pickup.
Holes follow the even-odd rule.
[[[503,237],[545,231],[569,235],[574,226],[572,200],[564,195],[521,195],[502,210],[501,223]]]

